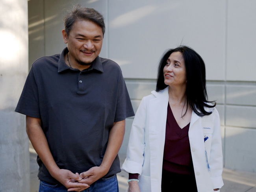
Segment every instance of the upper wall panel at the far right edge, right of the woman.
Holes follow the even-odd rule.
[[[226,79],[256,81],[256,2],[228,0]]]

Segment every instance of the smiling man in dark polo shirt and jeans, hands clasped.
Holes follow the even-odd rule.
[[[33,63],[15,110],[38,154],[39,192],[116,192],[125,118],[134,116],[122,72],[98,56],[100,13],[77,5],[64,25],[67,48]]]

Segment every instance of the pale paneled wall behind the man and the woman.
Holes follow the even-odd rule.
[[[72,4],[93,7],[106,22],[101,57],[119,63],[134,110],[155,89],[167,48],[191,46],[206,63],[207,90],[221,116],[224,166],[256,172],[256,2],[254,0],[30,0],[30,64],[60,53],[63,15]],[[38,18],[38,19],[37,19]],[[32,20],[34,19],[34,20]],[[33,38],[32,38],[33,35]],[[39,44],[37,44],[38,42]],[[33,46],[37,44],[37,46]],[[43,50],[43,51],[37,51]],[[126,153],[133,118],[126,120]]]

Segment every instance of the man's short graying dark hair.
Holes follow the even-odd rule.
[[[105,33],[104,17],[95,9],[82,7],[76,4],[72,8],[72,10],[69,13],[67,13],[67,15],[65,15],[63,19],[64,28],[68,37],[69,37],[69,32],[72,30],[74,22],[76,22],[76,20],[79,20],[79,19],[89,20],[99,25],[102,29],[102,33],[104,36],[104,33]]]

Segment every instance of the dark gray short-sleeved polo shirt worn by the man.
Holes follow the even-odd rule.
[[[65,64],[67,52],[33,63],[15,111],[40,118],[59,168],[81,173],[101,164],[113,123],[134,111],[119,65],[96,57],[80,71]],[[58,183],[39,157],[37,162],[39,179]],[[104,178],[120,171],[117,156]]]

